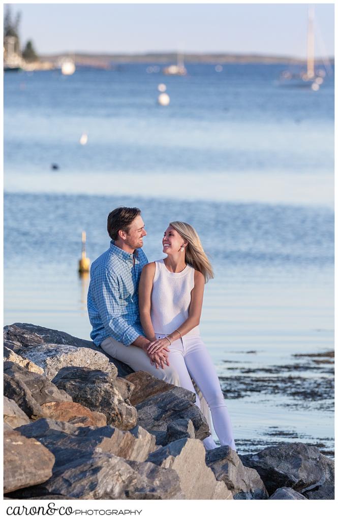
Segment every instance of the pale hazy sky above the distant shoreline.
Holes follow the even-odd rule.
[[[307,4],[10,4],[22,43],[62,51],[306,56]],[[334,54],[334,4],[314,4],[317,56]]]

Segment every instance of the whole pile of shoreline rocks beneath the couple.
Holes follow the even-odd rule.
[[[5,499],[334,499],[334,462],[283,443],[205,450],[195,394],[27,323],[4,328]]]

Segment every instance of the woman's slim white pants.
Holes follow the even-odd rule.
[[[165,337],[165,334],[155,334]],[[196,382],[211,411],[212,423],[222,446],[236,449],[227,405],[219,384],[218,375],[210,354],[199,335],[185,335],[170,346],[169,364],[179,375],[183,388],[195,392],[191,378]],[[196,405],[201,408],[198,395]],[[204,439],[207,449],[216,447],[212,437]]]

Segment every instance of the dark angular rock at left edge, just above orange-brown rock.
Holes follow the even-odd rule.
[[[12,399],[30,418],[43,417],[41,405],[45,402],[71,401],[44,375],[30,372],[16,363],[4,363],[4,395]]]

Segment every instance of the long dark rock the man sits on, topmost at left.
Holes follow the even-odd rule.
[[[118,369],[120,377],[123,378],[124,375],[133,372],[128,365],[112,358],[106,354],[102,348],[97,347],[92,341],[81,340],[79,337],[71,336],[66,332],[46,329],[45,327],[39,327],[32,323],[13,323],[12,325],[4,327],[4,344],[8,348],[14,350],[14,352],[21,350],[23,347],[43,345],[44,343],[91,348],[95,352],[104,354],[109,361],[114,363]]]

